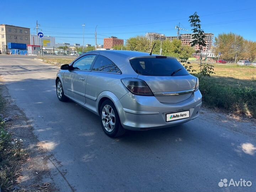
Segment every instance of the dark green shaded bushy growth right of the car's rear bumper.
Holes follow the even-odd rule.
[[[208,106],[256,117],[255,87],[223,86],[213,78],[204,78],[199,81],[199,89],[203,95],[203,101]]]

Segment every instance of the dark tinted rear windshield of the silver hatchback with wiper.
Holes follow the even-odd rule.
[[[187,70],[171,58],[135,58],[130,59],[133,70],[140,75],[148,76],[180,76],[189,75]],[[177,71],[176,73],[174,73]]]

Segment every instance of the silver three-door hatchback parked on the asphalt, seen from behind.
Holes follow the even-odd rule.
[[[84,53],[61,66],[56,89],[99,115],[110,137],[188,122],[202,105],[198,78],[175,58],[134,51]]]

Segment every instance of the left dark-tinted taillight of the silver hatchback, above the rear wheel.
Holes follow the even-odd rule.
[[[153,96],[152,91],[145,81],[136,78],[124,78],[121,82],[135,95]]]

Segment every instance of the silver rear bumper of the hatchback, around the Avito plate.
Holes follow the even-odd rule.
[[[125,129],[145,130],[176,126],[199,116],[202,95],[196,91],[190,98],[179,103],[161,103],[155,97],[133,95],[123,96],[116,103],[120,121]],[[167,113],[190,111],[190,117],[166,122]]]

